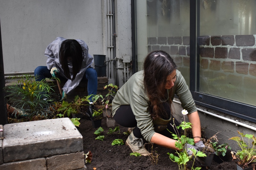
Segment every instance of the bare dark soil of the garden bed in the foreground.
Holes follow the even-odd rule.
[[[125,145],[125,141],[128,135],[124,135],[123,132],[127,132],[127,128],[119,126],[120,134],[107,134],[108,127],[106,123],[106,117],[102,119],[101,127],[104,131],[101,135],[104,135],[104,141],[95,140],[97,137],[94,132],[96,129],[93,128],[92,122],[87,119],[80,120],[81,125],[79,126],[79,131],[83,136],[84,143],[84,153],[88,151],[92,152],[92,162],[86,163],[86,167],[88,170],[93,170],[93,168],[97,170],[178,170],[179,166],[177,163],[172,162],[167,155],[169,153],[175,153],[174,150],[167,149],[156,144],[153,145],[153,152],[156,152],[158,157],[158,162],[156,165],[152,165],[148,156],[130,156],[132,153],[129,146]],[[114,129],[113,127],[112,129]],[[115,139],[122,139],[124,141],[124,145],[114,145],[111,143]],[[151,145],[147,144],[146,148],[149,152],[151,152]],[[230,151],[227,152],[225,157],[220,156],[221,159],[225,160],[217,160],[217,156],[214,157],[212,161],[210,170],[234,170],[236,169],[236,164],[232,161],[232,156]],[[219,162],[219,163],[218,163]],[[197,161],[194,165],[195,167],[201,167]],[[189,164],[188,168],[191,168],[191,164]],[[206,167],[202,167],[202,170],[207,169]]]

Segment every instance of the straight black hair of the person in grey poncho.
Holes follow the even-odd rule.
[[[68,79],[71,79],[68,68],[68,57],[71,58],[73,81],[76,78],[77,73],[81,69],[84,58],[84,51],[79,42],[77,42],[76,40],[65,40],[61,43],[60,46],[60,63],[64,70],[65,76]]]

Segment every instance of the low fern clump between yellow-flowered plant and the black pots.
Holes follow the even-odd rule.
[[[80,98],[78,95],[76,95],[74,101],[62,101],[61,104],[60,102],[55,102],[55,106],[58,106],[56,108],[58,112],[63,112],[64,115],[67,114],[69,117],[71,114],[80,113],[82,106],[88,106],[90,102],[90,96],[91,95]]]

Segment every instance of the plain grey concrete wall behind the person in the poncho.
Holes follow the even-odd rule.
[[[46,65],[45,48],[58,36],[84,40],[89,53],[105,54],[106,1],[0,0],[4,72]]]

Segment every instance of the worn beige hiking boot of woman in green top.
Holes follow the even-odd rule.
[[[125,144],[131,148],[132,152],[140,153],[140,155],[143,155],[143,156],[149,155],[149,152],[146,150],[146,148],[143,145],[142,138],[135,137],[133,135],[133,131],[127,138]]]

